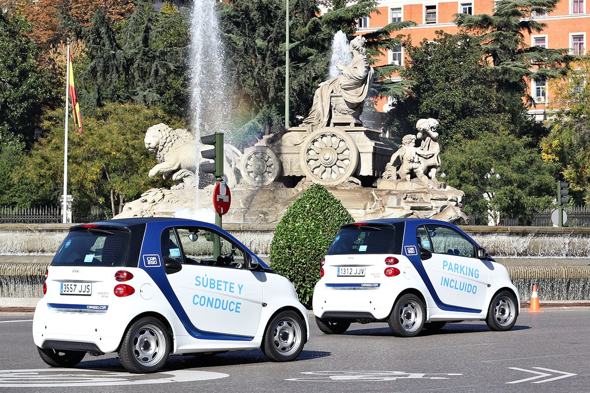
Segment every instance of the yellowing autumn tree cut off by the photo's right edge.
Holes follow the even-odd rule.
[[[590,189],[589,80],[590,57],[586,55],[565,78],[550,85],[555,92],[548,107],[550,132],[541,143],[543,160],[558,163],[571,189],[578,191]]]

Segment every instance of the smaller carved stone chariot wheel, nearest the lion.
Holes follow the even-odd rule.
[[[242,156],[242,179],[251,186],[263,187],[277,180],[281,161],[267,146],[254,146]]]

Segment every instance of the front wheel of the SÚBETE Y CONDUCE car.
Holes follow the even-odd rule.
[[[283,311],[271,319],[264,333],[264,355],[276,362],[293,360],[303,351],[306,327],[294,311]]]

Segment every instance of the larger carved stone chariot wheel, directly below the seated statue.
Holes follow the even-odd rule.
[[[310,134],[301,150],[301,169],[314,183],[340,184],[352,176],[359,164],[355,141],[336,127],[323,127]]]

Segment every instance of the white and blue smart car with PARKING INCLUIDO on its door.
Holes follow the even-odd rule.
[[[519,292],[506,267],[458,227],[427,219],[345,224],[322,261],[313,292],[317,326],[388,322],[397,336],[447,322],[486,321],[512,329]]]

